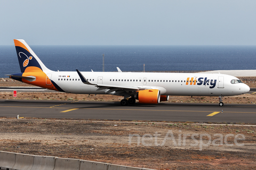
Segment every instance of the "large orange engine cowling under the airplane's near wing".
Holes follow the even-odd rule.
[[[160,102],[160,91],[156,89],[138,91],[139,103],[158,104]]]

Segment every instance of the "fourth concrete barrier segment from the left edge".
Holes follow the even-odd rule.
[[[54,170],[79,170],[79,159],[56,158]]]

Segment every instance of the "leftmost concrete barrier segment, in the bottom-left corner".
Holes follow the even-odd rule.
[[[15,164],[15,155],[12,152],[0,151],[0,167],[12,168]]]

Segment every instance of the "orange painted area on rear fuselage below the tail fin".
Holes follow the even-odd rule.
[[[57,90],[57,88],[55,88],[53,86],[53,84],[51,85],[46,85],[46,79],[48,78],[47,75],[38,67],[34,67],[34,66],[30,66],[27,67],[25,72],[22,74],[22,76],[27,77],[27,76],[34,76],[36,77],[35,81],[28,81],[26,79],[22,78],[22,82],[25,82],[27,84],[33,84],[35,86],[39,86],[39,87],[43,87],[46,89],[51,89],[51,90]],[[49,79],[49,78],[48,78]]]

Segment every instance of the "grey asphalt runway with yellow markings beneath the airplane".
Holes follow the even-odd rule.
[[[0,100],[0,117],[77,118],[122,121],[256,123],[256,105],[161,103],[120,106],[119,102]]]

